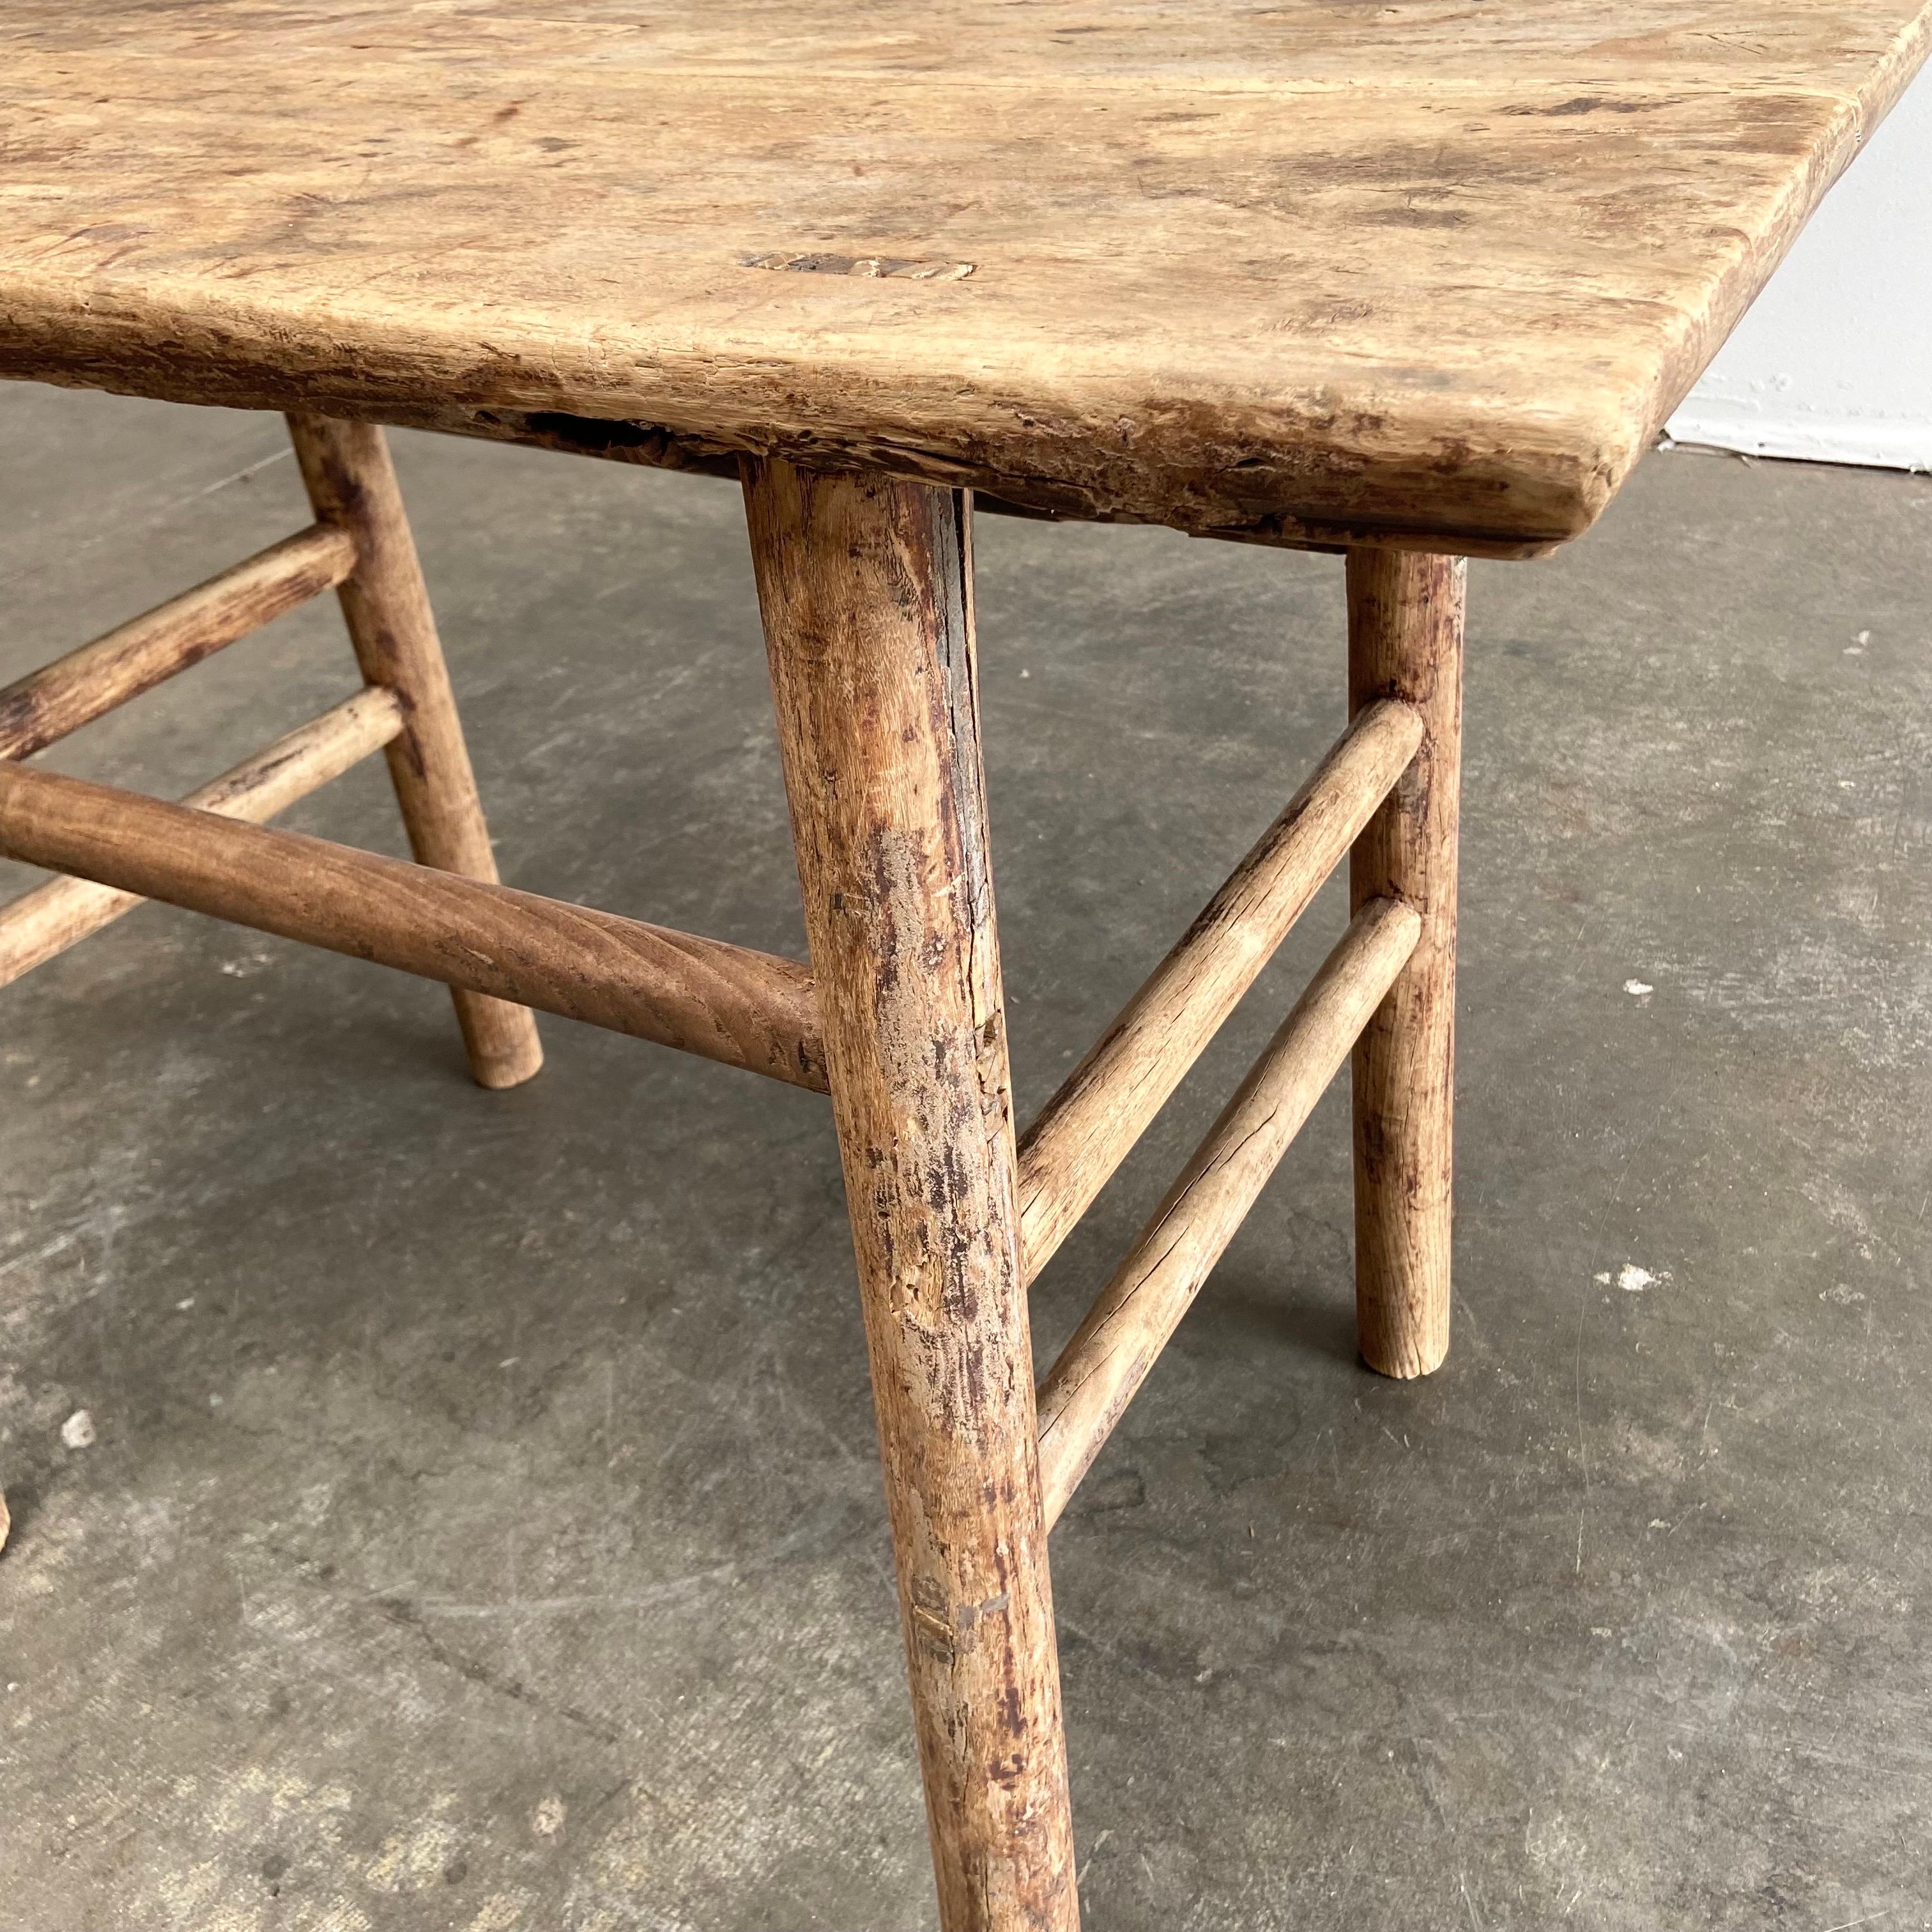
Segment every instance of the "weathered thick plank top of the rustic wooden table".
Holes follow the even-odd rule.
[[[0,373],[1584,529],[1924,0],[8,0]]]

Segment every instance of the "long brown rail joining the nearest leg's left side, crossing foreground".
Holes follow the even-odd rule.
[[[794,960],[0,763],[0,854],[825,1092]]]

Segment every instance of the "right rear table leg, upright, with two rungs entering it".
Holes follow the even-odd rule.
[[[1356,1323],[1383,1376],[1426,1376],[1449,1350],[1464,574],[1457,556],[1349,553],[1349,711],[1401,697],[1426,726],[1349,860],[1356,910],[1389,896],[1422,916],[1354,1049]]]

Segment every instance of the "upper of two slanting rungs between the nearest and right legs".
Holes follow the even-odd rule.
[[[1387,699],[1360,711],[1041,1107],[1020,1140],[1020,1256],[1028,1281],[1167,1105],[1420,744],[1422,715],[1414,705]]]

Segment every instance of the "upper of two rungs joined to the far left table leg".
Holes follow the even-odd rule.
[[[0,690],[0,757],[31,757],[355,568],[355,539],[311,524]]]

